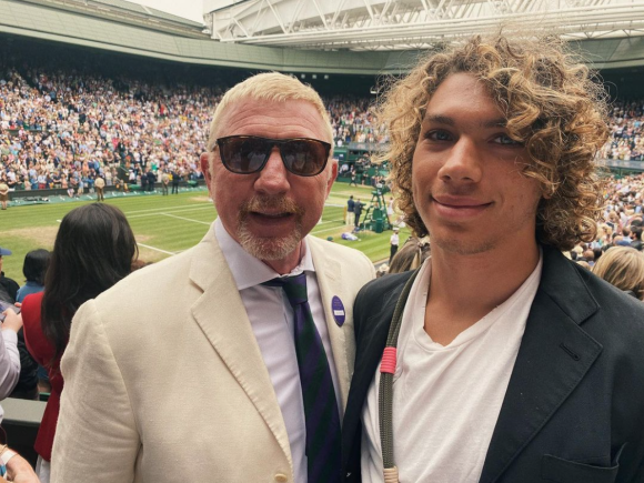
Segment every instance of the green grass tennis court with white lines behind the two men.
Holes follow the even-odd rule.
[[[322,222],[313,229],[313,234],[362,251],[374,263],[389,258],[391,231],[360,233],[360,241],[345,241],[340,238],[348,231],[343,215],[346,200],[353,194],[363,202],[371,201],[371,189],[335,183],[326,200]],[[388,195],[389,199],[389,195]],[[3,258],[4,274],[19,284],[24,283],[22,263],[30,250],[46,248],[51,250],[60,220],[71,210],[92,201],[69,201],[50,204],[13,205],[0,212],[0,246],[13,252]],[[191,191],[177,195],[161,194],[129,195],[107,198],[107,202],[119,207],[128,217],[137,242],[140,259],[159,261],[172,253],[197,244],[217,218],[208,192]],[[407,229],[401,230],[401,242],[410,235]]]

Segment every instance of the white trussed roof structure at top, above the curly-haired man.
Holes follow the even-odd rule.
[[[644,34],[638,0],[204,0],[214,40],[313,50],[427,49],[497,30]]]

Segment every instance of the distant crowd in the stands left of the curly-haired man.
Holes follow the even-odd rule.
[[[69,195],[105,185],[125,189],[203,175],[199,154],[219,88],[161,84],[138,79],[50,71],[14,66],[0,69],[0,168],[13,190],[66,189]],[[326,99],[336,145],[383,143],[370,100]],[[150,174],[150,172],[152,174]]]

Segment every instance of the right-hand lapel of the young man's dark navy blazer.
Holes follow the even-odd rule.
[[[487,450],[481,483],[495,482],[582,381],[602,345],[580,324],[598,309],[581,274],[544,248],[539,291]]]

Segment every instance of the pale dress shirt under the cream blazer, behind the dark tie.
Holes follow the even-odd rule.
[[[304,420],[304,405],[302,402],[302,388],[300,385],[300,370],[295,354],[293,310],[282,290],[279,286],[264,286],[263,282],[278,276],[298,275],[306,273],[306,292],[309,305],[313,314],[315,328],[320,333],[329,368],[333,379],[335,399],[342,420],[342,405],[340,401],[340,388],[335,373],[335,363],[329,340],[329,330],[320,286],[313,266],[313,259],[308,249],[306,240],[303,240],[302,259],[300,264],[291,273],[276,273],[269,265],[255,259],[233,240],[227,232],[223,223],[218,218],[214,222],[214,235],[228,262],[237,288],[245,306],[251,328],[258,341],[258,345],[269,370],[269,375],[275,390],[275,395],[282,411],[282,417],[289,434],[291,456],[293,459],[293,477],[298,483],[306,483],[306,456],[304,454],[306,443],[306,430]],[[234,321],[231,321],[234,322]]]

